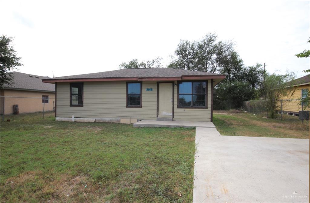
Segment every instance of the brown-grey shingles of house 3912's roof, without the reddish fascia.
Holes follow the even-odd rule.
[[[85,78],[164,78],[181,77],[184,75],[220,75],[216,73],[207,73],[201,71],[178,70],[171,68],[138,68],[138,69],[120,69],[99,73],[70,75],[49,79],[85,79]]]

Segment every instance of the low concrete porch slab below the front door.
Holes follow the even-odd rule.
[[[167,127],[167,128],[215,128],[212,122],[199,121],[157,121],[157,120],[140,120],[134,123],[134,127]]]

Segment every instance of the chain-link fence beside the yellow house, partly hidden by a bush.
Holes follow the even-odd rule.
[[[300,99],[279,100],[279,105],[277,106],[279,106],[279,109],[277,109],[277,113],[279,114],[278,118],[281,120],[284,114],[299,116],[301,122],[303,122],[303,120],[309,120],[309,109],[307,109]],[[266,117],[268,117],[270,113],[267,102],[264,100],[243,101],[242,109],[248,113],[265,114]]]

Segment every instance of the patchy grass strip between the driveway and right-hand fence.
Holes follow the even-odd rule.
[[[309,120],[302,124],[296,116],[283,115],[283,120],[265,116],[215,111],[213,123],[221,135],[309,139]]]

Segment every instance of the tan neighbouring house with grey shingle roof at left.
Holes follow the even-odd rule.
[[[11,72],[13,81],[1,89],[1,114],[12,114],[17,104],[19,113],[55,110],[55,84],[42,83],[48,77]]]

